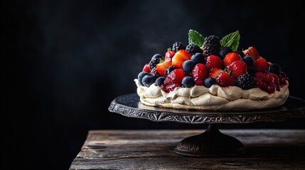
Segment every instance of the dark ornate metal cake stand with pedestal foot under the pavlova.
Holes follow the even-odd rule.
[[[156,122],[207,123],[200,135],[186,137],[174,152],[189,157],[232,157],[245,152],[242,142],[218,130],[220,123],[277,122],[290,118],[305,118],[305,101],[289,96],[283,106],[256,111],[193,111],[146,106],[137,94],[118,96],[109,111],[131,118],[145,118]]]

